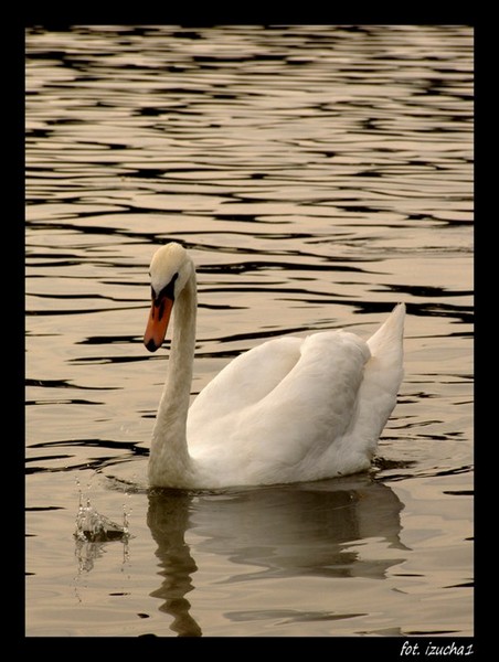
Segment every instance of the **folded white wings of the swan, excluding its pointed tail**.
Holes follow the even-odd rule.
[[[232,484],[331,476],[321,458],[355,416],[368,344],[342,331],[280,340],[233,361],[191,407],[189,450],[222,482],[224,476]]]

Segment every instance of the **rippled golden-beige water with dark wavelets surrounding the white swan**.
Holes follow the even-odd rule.
[[[473,634],[471,40],[28,31],[28,636]],[[193,396],[267,338],[365,338],[406,302],[369,474],[144,488],[170,239],[198,265]],[[127,534],[75,537],[87,500]]]

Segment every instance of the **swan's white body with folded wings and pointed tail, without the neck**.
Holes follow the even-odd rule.
[[[404,307],[367,342],[346,331],[264,343],[230,363],[188,418],[216,485],[319,480],[369,469],[402,381]]]

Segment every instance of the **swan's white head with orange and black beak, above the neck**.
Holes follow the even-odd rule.
[[[176,298],[191,278],[194,266],[185,248],[176,242],[161,246],[151,259],[151,309],[144,344],[150,352],[158,350],[167,333]]]

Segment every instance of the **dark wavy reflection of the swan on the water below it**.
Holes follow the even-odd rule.
[[[195,589],[195,552],[185,533],[200,536],[197,551],[244,565],[227,581],[283,577],[382,579],[407,549],[400,540],[403,504],[387,485],[369,476],[217,493],[171,489],[149,491],[147,522],[158,548],[161,586],[151,596],[173,617],[180,637],[200,637],[187,594]],[[361,557],[361,541],[376,538],[401,551],[400,558]],[[349,543],[355,543],[353,547]],[[386,548],[385,547],[385,548]],[[247,572],[247,566],[255,570]],[[236,615],[234,615],[236,618]]]

